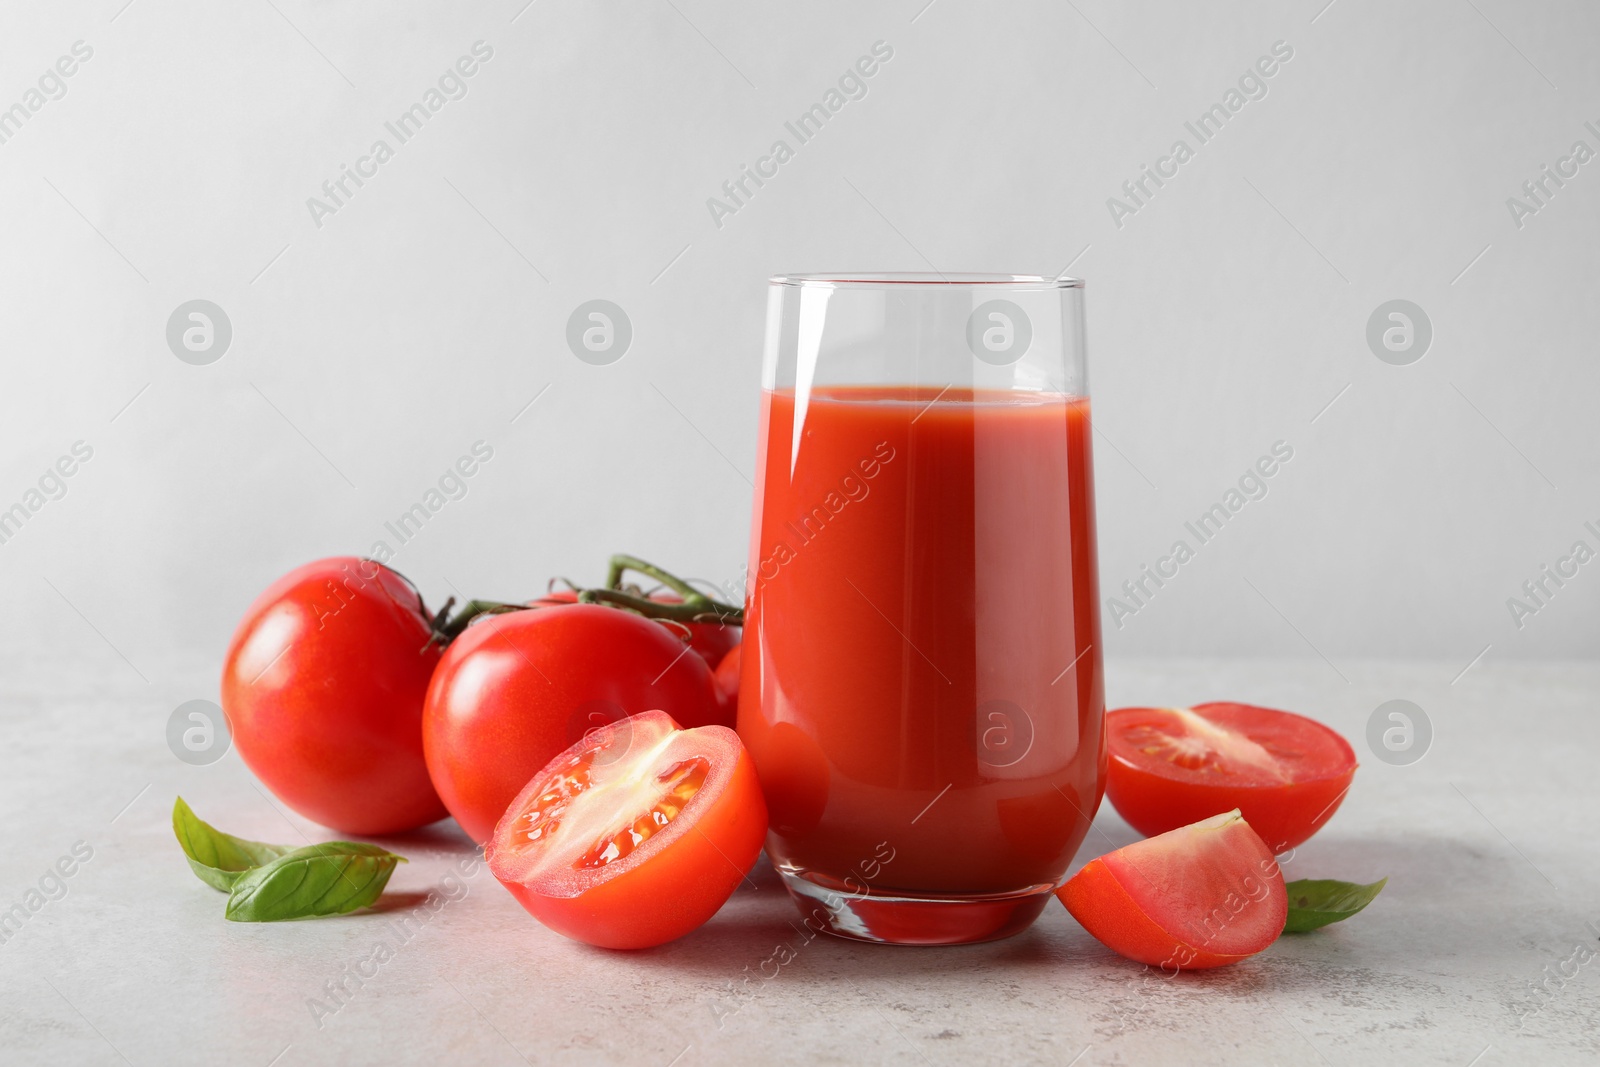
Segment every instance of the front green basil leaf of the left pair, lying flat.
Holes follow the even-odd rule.
[[[368,907],[384,891],[395,864],[406,862],[376,845],[326,841],[278,856],[245,872],[227,896],[235,923],[344,915]]]

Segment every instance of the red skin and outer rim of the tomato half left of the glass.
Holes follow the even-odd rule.
[[[637,715],[626,723],[603,728],[602,734],[626,729],[629,725],[643,733],[642,721],[656,715],[659,712]],[[670,718],[667,725],[677,726]],[[755,777],[755,763],[731,729],[706,726],[693,733],[726,753],[736,753],[733,771],[717,795],[707,797],[709,803],[698,809],[693,832],[682,835],[669,849],[650,856],[643,864],[600,880],[598,885],[574,896],[541,891],[547,886],[506,877],[502,857],[512,851],[510,837],[515,833],[525,800],[568,757],[584,749],[586,742],[579,742],[550,760],[507,806],[486,851],[496,880],[530,915],[555,933],[602,949],[648,949],[702,926],[755,865],[766,838],[766,805]]]

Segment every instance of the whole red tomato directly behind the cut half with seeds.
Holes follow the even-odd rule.
[[[662,625],[571,605],[469,625],[434,672],[422,749],[461,829],[486,841],[528,779],[586,733],[646,710],[720,720],[710,670]]]

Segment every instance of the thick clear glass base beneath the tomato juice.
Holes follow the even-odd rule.
[[[1034,925],[1051,885],[1011,893],[922,894],[862,888],[778,867],[810,929],[880,945],[966,945],[1000,941]]]

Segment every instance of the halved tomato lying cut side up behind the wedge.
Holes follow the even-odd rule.
[[[1250,704],[1122,707],[1106,739],[1106,798],[1146,837],[1238,808],[1283,853],[1333,817],[1355,776],[1344,737]]]

